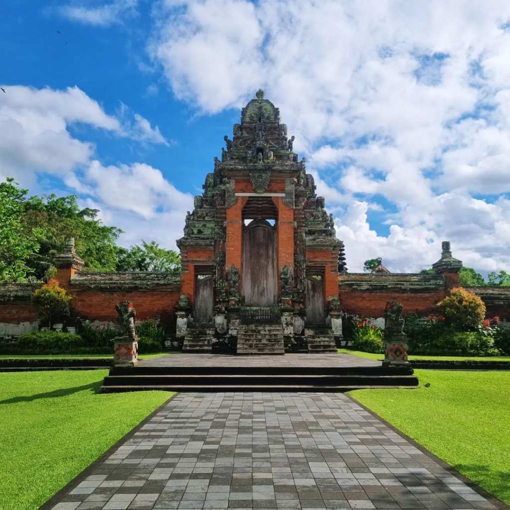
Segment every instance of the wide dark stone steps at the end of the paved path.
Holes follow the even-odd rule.
[[[177,355],[178,356],[178,355]],[[265,356],[264,356],[265,357]],[[315,356],[314,356],[315,357]],[[122,391],[331,391],[416,388],[412,370],[390,367],[137,366],[113,367],[102,393]]]

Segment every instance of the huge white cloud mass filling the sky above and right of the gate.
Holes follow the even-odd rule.
[[[201,113],[265,89],[318,191],[346,211],[351,268],[380,255],[418,270],[450,239],[467,265],[510,269],[508,19],[502,0],[169,1],[148,47]],[[388,211],[389,235],[369,209]]]

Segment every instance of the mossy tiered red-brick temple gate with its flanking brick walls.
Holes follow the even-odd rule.
[[[185,219],[181,275],[94,273],[72,243],[57,257],[58,280],[73,296],[74,319],[117,320],[131,301],[137,320],[159,317],[169,341],[187,352],[334,352],[347,314],[377,319],[386,303],[427,315],[458,286],[462,262],[448,242],[435,274],[348,273],[333,216],[317,196],[304,158],[277,108],[259,90],[205,177]],[[439,257],[430,253],[430,262]],[[347,253],[348,256],[348,253]],[[30,297],[41,284],[0,286],[0,336],[37,329]],[[472,289],[488,316],[508,318],[504,288]],[[397,353],[398,354],[398,353]]]

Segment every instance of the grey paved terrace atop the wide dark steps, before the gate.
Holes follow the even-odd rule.
[[[384,355],[381,354],[381,359]],[[143,367],[380,367],[381,362],[352,354],[285,354],[230,356],[225,354],[168,354],[140,361]]]

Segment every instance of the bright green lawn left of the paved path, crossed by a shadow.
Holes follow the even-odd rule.
[[[96,393],[107,374],[0,374],[2,510],[38,508],[173,395]]]

